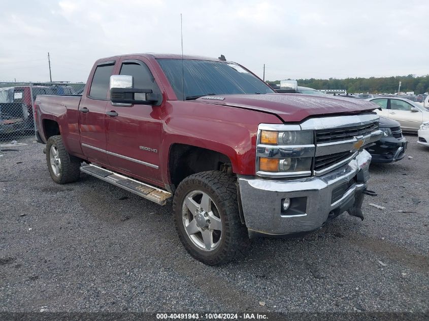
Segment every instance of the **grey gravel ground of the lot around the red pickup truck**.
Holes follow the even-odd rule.
[[[365,221],[256,239],[222,267],[187,255],[169,205],[84,174],[54,184],[28,138],[0,157],[0,311],[427,311],[429,148],[407,138],[412,159],[371,165]]]

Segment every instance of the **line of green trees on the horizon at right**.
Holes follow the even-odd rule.
[[[298,86],[311,87],[314,89],[346,89],[347,92],[370,92],[370,93],[394,93],[398,91],[401,82],[401,91],[414,91],[414,94],[429,92],[429,75],[414,77],[392,76],[392,77],[370,77],[370,78],[346,78],[346,79],[297,79]],[[267,81],[268,84],[280,84],[280,80]]]

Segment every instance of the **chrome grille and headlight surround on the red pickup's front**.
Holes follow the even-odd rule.
[[[312,131],[313,141],[302,144],[261,144],[261,131]],[[380,139],[379,117],[375,113],[309,118],[300,124],[259,124],[256,137],[256,175],[262,177],[321,176],[350,162],[365,146]],[[283,143],[284,144],[284,143]],[[261,158],[305,161],[300,171],[260,170]],[[298,159],[299,158],[299,159]],[[310,159],[311,158],[311,159]],[[311,162],[309,162],[311,160]],[[280,164],[280,161],[279,161]],[[311,164],[311,165],[310,165]],[[308,166],[308,167],[307,167]]]

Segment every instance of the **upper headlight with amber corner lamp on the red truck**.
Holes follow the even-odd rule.
[[[261,144],[268,145],[309,145],[313,144],[313,131],[270,131],[262,130],[260,134]]]

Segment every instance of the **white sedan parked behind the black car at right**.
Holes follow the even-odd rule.
[[[380,106],[376,113],[398,121],[403,131],[417,132],[420,125],[429,122],[429,111],[422,105],[405,98],[375,97],[367,99]]]

